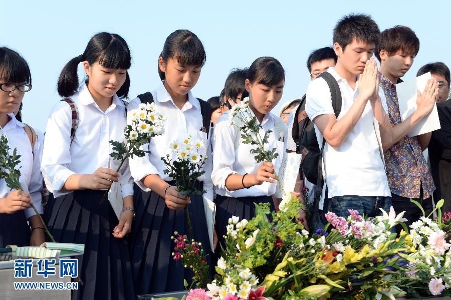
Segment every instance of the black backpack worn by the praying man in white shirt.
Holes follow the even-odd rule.
[[[337,80],[328,72],[321,73],[318,78],[323,78],[328,84],[331,94],[332,107],[335,112],[335,117],[338,118],[341,111],[341,92]],[[303,172],[308,181],[317,184],[314,201],[317,208],[319,198],[321,197],[322,184],[324,182],[322,162],[326,140],[323,137],[323,142],[320,149],[316,138],[314,123],[309,119],[307,113],[305,112],[305,103],[306,95],[302,97],[301,103],[296,110],[295,116],[297,116],[298,126],[296,126],[296,123],[293,125],[292,136],[293,140],[296,142],[296,153],[302,154],[300,169],[301,174]]]

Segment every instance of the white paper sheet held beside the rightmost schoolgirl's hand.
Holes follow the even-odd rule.
[[[277,174],[284,186],[286,193],[290,193],[294,190],[296,179],[299,173],[299,166],[301,165],[301,154],[298,153],[284,153],[282,163],[279,168],[279,173]],[[274,194],[276,198],[284,198],[282,189],[279,183],[276,187],[276,193]]]

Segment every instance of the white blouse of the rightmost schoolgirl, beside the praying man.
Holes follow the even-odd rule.
[[[276,192],[276,183],[263,182],[261,185],[254,185],[250,188],[243,188],[239,190],[231,191],[225,187],[225,179],[231,174],[252,174],[256,173],[257,169],[263,163],[256,163],[254,155],[251,150],[256,146],[251,144],[244,144],[235,139],[241,139],[241,132],[238,131],[236,125],[239,122],[235,117],[234,122],[236,125],[229,124],[229,112],[227,111],[219,117],[214,125],[214,138],[213,138],[213,171],[211,178],[213,184],[216,187],[216,194],[228,197],[250,197],[250,196],[272,196]],[[252,110],[251,110],[252,113]],[[253,114],[253,113],[252,113]],[[284,142],[280,141],[281,137],[276,137],[275,133],[275,120],[273,114],[269,113],[263,117],[260,136],[265,135],[265,131],[272,130],[269,134],[268,143],[265,144],[265,150],[277,149],[279,156],[275,158],[272,163],[276,172],[279,171],[279,167],[282,162],[284,149]],[[240,136],[236,136],[237,133]],[[238,145],[238,148],[235,148]]]

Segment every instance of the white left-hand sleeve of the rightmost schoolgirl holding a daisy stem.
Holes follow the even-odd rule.
[[[234,191],[225,187],[225,179],[230,174],[237,174],[233,169],[235,162],[235,125],[230,125],[228,118],[228,113],[222,114],[214,126],[211,179],[217,188],[233,193]]]

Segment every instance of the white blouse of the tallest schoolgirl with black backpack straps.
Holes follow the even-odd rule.
[[[202,140],[205,147],[201,148],[200,154],[207,155],[208,159],[203,165],[205,173],[197,178],[198,181],[203,181],[203,189],[207,192],[203,195],[207,200],[213,200],[213,183],[211,182],[211,147],[210,147],[210,135],[208,135],[200,129],[203,127],[202,114],[200,113],[199,101],[194,98],[191,92],[188,92],[188,101],[179,109],[172,97],[167,92],[163,85],[163,82],[158,86],[156,90],[152,92],[154,103],[161,113],[166,116],[166,122],[164,124],[164,134],[155,136],[151,139],[149,144],[141,146],[142,150],[150,151],[150,154],[144,157],[131,158],[130,171],[136,184],[143,191],[150,191],[141,180],[150,174],[157,174],[161,179],[170,181],[172,178],[169,175],[164,174],[166,166],[164,165],[161,157],[170,154],[169,145],[173,141],[184,138],[187,135],[191,135],[192,139]],[[128,124],[131,124],[131,114],[134,110],[137,110],[141,104],[139,98],[135,98],[130,101],[128,105]]]

